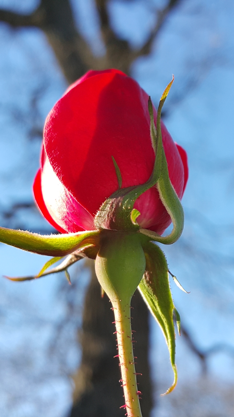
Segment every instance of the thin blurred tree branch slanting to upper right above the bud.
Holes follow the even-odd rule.
[[[134,59],[141,56],[141,55],[149,55],[151,52],[152,44],[154,39],[157,38],[159,31],[161,30],[162,26],[164,25],[166,19],[168,18],[169,14],[172,10],[179,5],[181,0],[169,0],[167,5],[157,12],[157,19],[154,25],[153,30],[151,31],[147,42],[140,48],[139,50],[135,51]]]

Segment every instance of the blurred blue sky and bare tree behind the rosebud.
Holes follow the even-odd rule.
[[[45,117],[69,83],[90,68],[119,68],[157,107],[175,76],[163,119],[187,150],[190,171],[183,235],[163,250],[190,293],[171,282],[182,335],[179,382],[166,397],[160,394],[173,379],[169,354],[149,317],[149,346],[141,348],[150,368],[143,417],[234,414],[233,20],[231,0],[0,0],[1,226],[55,232],[34,205],[32,182]],[[1,276],[35,274],[46,260],[0,244]],[[1,417],[124,415],[116,407],[105,414],[112,394],[96,365],[108,334],[103,349],[84,339],[87,329],[92,336],[92,326],[85,327],[92,274],[81,261],[71,269],[72,285],[63,274],[25,283],[0,279]]]

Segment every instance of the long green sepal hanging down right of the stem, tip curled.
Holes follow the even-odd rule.
[[[152,242],[143,244],[146,269],[138,289],[149,310],[159,323],[169,349],[174,382],[165,392],[169,394],[177,384],[177,368],[175,364],[175,332],[173,323],[174,304],[168,279],[168,266],[161,249]]]

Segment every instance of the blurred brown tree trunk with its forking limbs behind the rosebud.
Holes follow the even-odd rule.
[[[100,18],[100,31],[106,53],[102,57],[92,54],[90,46],[75,25],[69,0],[41,0],[39,7],[30,15],[0,9],[0,21],[13,28],[32,26],[43,30],[47,36],[62,72],[68,83],[80,78],[88,69],[117,68],[129,74],[132,62],[139,56],[148,55],[154,39],[164,21],[180,0],[168,0],[155,13],[155,25],[145,44],[133,50],[127,40],[117,37],[110,25],[108,0],[95,0]],[[106,296],[100,296],[100,285],[93,264],[92,279],[87,290],[81,335],[82,362],[74,377],[74,404],[70,417],[121,417],[125,411],[123,391],[118,380],[120,371],[116,355],[116,338],[112,322],[113,313]],[[152,385],[148,363],[148,310],[138,291],[132,299],[132,328],[136,331],[135,356],[142,391],[142,413],[149,416],[152,407]]]

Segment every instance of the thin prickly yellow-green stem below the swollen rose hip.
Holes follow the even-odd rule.
[[[122,407],[126,407],[128,417],[142,417],[132,348],[130,302],[126,304],[118,300],[112,301],[112,305],[115,314],[119,363],[125,397],[125,404]]]

